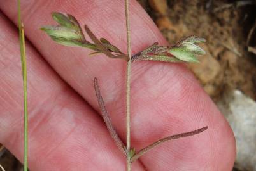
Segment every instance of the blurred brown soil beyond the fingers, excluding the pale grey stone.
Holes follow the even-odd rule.
[[[208,41],[202,44],[207,54],[199,59],[201,64],[188,67],[214,101],[233,89],[256,100],[256,54],[248,52],[248,46],[256,48],[256,1],[138,1],[170,44],[188,35]],[[6,170],[21,168],[8,151],[0,164]]]

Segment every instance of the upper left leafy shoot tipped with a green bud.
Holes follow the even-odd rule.
[[[129,59],[106,39],[101,38],[99,41],[90,31],[89,27],[85,25],[85,31],[94,44],[87,41],[83,35],[82,28],[74,16],[69,14],[65,15],[63,13],[52,13],[52,18],[59,23],[59,25],[41,27],[41,30],[45,31],[53,41],[65,46],[79,46],[92,49],[94,53],[91,54],[104,53],[110,58]]]

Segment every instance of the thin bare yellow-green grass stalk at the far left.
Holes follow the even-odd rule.
[[[27,164],[27,128],[28,128],[28,114],[27,114],[27,66],[25,58],[25,36],[24,27],[21,22],[20,0],[18,0],[18,30],[20,38],[20,57],[22,64],[22,79],[23,79],[23,93],[24,93],[24,171],[28,170]]]

